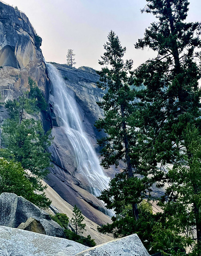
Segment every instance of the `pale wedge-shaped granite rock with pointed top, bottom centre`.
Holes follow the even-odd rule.
[[[149,256],[137,234],[97,245],[76,256]]]

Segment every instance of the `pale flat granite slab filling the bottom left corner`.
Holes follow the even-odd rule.
[[[74,256],[88,248],[68,239],[0,226],[0,256]]]

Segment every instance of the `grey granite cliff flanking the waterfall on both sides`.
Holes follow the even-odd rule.
[[[72,145],[65,139],[59,118],[54,113],[54,102],[49,98],[52,85],[40,49],[41,38],[22,11],[15,10],[2,2],[0,2],[0,31],[1,102],[16,99],[22,92],[29,90],[28,77],[38,83],[47,102],[49,101],[49,114],[41,113],[38,117],[42,120],[45,130],[52,128],[52,136],[54,136],[54,142],[49,148],[54,167],[50,170],[47,183],[68,203],[76,204],[90,220],[97,224],[109,222],[109,217],[104,214],[106,209],[103,204],[89,192],[89,186],[83,175],[77,172]],[[98,76],[94,70],[87,67],[74,69],[61,64],[54,66],[60,70],[66,86],[73,91],[84,130],[95,150],[98,151],[96,138],[101,134],[93,125],[95,120],[102,117],[102,112],[96,104],[96,101],[101,100],[103,96],[103,91],[95,85]],[[0,106],[0,122],[7,117],[3,105]],[[112,175],[110,170],[108,175]]]

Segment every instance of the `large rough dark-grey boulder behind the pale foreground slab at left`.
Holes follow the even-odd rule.
[[[0,225],[17,228],[31,217],[41,223],[46,235],[65,238],[61,226],[51,220],[49,214],[21,196],[18,197],[13,193],[2,193],[0,195],[0,209]]]

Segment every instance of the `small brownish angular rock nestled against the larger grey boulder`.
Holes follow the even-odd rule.
[[[17,228],[46,235],[45,229],[43,228],[41,222],[33,218],[29,218],[25,223],[21,223]]]

